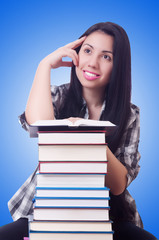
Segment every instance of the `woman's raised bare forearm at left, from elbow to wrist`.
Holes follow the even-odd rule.
[[[29,124],[44,119],[54,119],[50,90],[51,66],[40,62],[26,105],[25,116]]]

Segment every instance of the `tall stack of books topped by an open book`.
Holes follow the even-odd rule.
[[[41,121],[30,127],[39,145],[30,240],[113,239],[105,136],[114,126],[93,122],[87,120],[86,127]]]

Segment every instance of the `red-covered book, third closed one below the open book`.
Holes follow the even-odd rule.
[[[62,162],[39,162],[40,173],[106,173],[107,162],[80,162],[80,161],[62,161]]]

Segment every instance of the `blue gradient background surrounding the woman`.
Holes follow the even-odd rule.
[[[92,24],[112,21],[126,30],[132,50],[132,102],[141,109],[141,171],[129,187],[145,229],[159,238],[159,15],[158,1],[0,2],[0,226],[11,221],[7,201],[38,162],[37,139],[21,129],[38,63],[78,38]],[[52,72],[52,83],[69,81],[69,69]]]

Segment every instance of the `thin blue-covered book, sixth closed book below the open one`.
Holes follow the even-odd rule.
[[[109,207],[109,198],[35,197],[35,206],[53,207]]]

